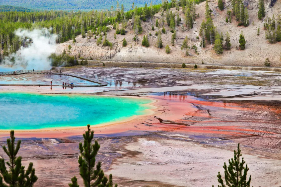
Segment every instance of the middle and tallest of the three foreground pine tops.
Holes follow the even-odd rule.
[[[99,186],[99,187],[113,187],[112,175],[109,176],[109,180],[101,170],[101,162],[96,165],[96,154],[100,149],[100,145],[97,140],[92,144],[94,138],[94,131],[91,131],[90,125],[87,125],[88,130],[83,134],[84,144],[79,143],[80,156],[78,159],[80,176],[83,179],[85,187]],[[96,169],[95,169],[96,165]],[[71,179],[69,186],[76,186],[76,177]],[[117,187],[117,184],[115,184]]]

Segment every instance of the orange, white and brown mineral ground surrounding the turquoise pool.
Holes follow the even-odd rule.
[[[113,84],[67,91],[18,86],[0,87],[0,91],[156,100],[148,115],[92,127],[101,144],[97,160],[102,161],[106,174],[113,174],[118,186],[216,185],[217,172],[223,171],[222,165],[232,157],[237,143],[250,168],[252,185],[281,185],[279,73],[114,67],[64,71]],[[78,144],[83,131],[85,127],[16,131],[16,137],[23,140],[19,152],[23,164],[32,161],[39,177],[35,186],[68,186],[73,175],[79,176]],[[6,144],[7,136],[0,132],[1,145]],[[0,155],[7,158],[3,151]],[[80,177],[78,182],[82,185]]]

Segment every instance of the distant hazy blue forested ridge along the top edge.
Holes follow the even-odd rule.
[[[124,10],[129,10],[134,3],[137,7],[143,7],[145,3],[159,4],[161,0],[120,0]],[[111,6],[116,7],[115,0],[1,0],[0,5],[12,5],[26,7],[35,10],[110,10]]]

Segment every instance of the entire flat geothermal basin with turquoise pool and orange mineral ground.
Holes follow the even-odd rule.
[[[32,161],[36,169],[34,186],[67,187],[73,175],[83,185],[77,160],[87,124],[101,145],[96,160],[118,186],[215,185],[237,143],[251,185],[281,185],[279,73],[118,67],[54,71],[60,70],[108,85],[83,87],[97,83],[60,74],[0,76],[1,143],[14,129],[22,139],[23,165]],[[74,87],[65,89],[62,82]]]

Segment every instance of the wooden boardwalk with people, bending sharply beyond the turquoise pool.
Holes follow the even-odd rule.
[[[107,86],[106,82],[101,82],[94,79],[89,79],[86,77],[81,77],[79,75],[70,74],[70,73],[60,73],[58,70],[17,70],[17,71],[4,71],[0,72],[0,76],[4,75],[19,75],[19,74],[53,74],[53,75],[66,75],[75,77],[78,79],[83,79],[92,83],[96,83],[97,85],[73,85],[73,87],[100,87],[100,86]],[[62,86],[58,84],[0,84],[0,86]],[[66,86],[71,87],[71,86]]]

